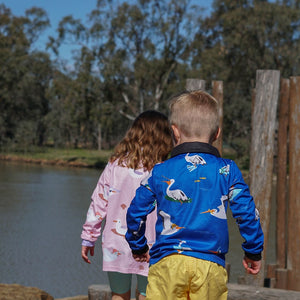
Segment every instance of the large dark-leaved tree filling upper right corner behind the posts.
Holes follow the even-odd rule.
[[[299,74],[299,25],[299,1],[215,0],[201,22],[193,66],[201,77],[224,81],[224,136],[241,155],[248,150],[256,70]]]

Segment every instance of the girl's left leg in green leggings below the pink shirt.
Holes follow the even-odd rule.
[[[130,300],[131,274],[107,272],[112,300]]]

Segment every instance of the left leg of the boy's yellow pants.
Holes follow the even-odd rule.
[[[184,255],[169,255],[149,268],[146,300],[188,299],[185,258]]]

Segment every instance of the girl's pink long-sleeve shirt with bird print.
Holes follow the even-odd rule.
[[[101,224],[105,219],[102,233],[103,271],[148,275],[148,263],[136,262],[125,240],[127,209],[135,190],[148,174],[143,169],[121,167],[118,161],[114,161],[106,165],[98,180],[81,238],[83,245],[93,245],[101,234]],[[155,241],[155,222],[154,211],[148,216],[146,225],[149,248]]]

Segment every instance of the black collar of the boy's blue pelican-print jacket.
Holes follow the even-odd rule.
[[[210,144],[201,142],[182,143],[172,150],[171,157],[184,153],[207,153],[216,157],[221,157],[217,148]]]

